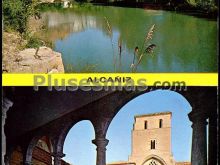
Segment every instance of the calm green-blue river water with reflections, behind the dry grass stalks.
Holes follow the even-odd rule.
[[[148,44],[157,47],[153,56],[143,57],[137,72],[217,71],[215,21],[117,7],[50,11],[43,14],[43,21],[46,29],[41,36],[63,54],[67,72],[130,72],[134,48],[141,46],[153,24],[156,30]]]

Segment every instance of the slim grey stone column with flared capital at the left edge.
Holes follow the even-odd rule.
[[[2,165],[5,165],[4,158],[6,154],[6,137],[5,137],[4,126],[7,117],[7,111],[12,105],[13,103],[9,99],[3,98],[2,100]]]

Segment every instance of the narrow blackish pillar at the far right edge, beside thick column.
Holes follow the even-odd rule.
[[[217,164],[217,114],[209,118],[208,164]]]

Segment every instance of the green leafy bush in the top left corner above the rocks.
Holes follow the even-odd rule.
[[[3,23],[5,30],[23,34],[27,32],[28,18],[38,14],[37,0],[3,0]],[[39,14],[38,14],[39,15]]]

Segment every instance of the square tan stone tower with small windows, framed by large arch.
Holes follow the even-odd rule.
[[[175,165],[171,151],[171,112],[135,116],[129,162]]]

